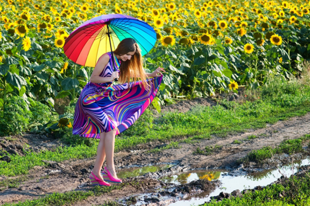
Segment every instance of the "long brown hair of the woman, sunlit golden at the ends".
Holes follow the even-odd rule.
[[[135,54],[131,57],[130,60],[122,61],[119,66],[120,77],[119,82],[124,84],[126,82],[130,82],[130,78],[134,81],[138,79],[142,80],[142,84],[144,87],[148,87],[146,83],[146,74],[142,67],[142,56],[141,50],[137,42],[132,38],[123,39],[117,46],[117,48],[113,51],[114,54],[119,56],[123,54],[127,54],[128,52],[135,52]]]

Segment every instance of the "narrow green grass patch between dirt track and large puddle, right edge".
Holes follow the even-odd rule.
[[[269,146],[263,147],[258,150],[254,150],[242,158],[238,162],[249,162],[255,161],[257,163],[262,162],[268,158],[271,158],[273,154],[293,154],[298,152],[303,152],[303,142],[310,139],[310,135],[303,135],[298,139],[289,139],[281,142],[276,148],[271,148]]]

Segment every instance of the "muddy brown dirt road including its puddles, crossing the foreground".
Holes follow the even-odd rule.
[[[180,148],[157,153],[148,151],[164,143],[137,145],[136,150],[115,153],[117,173],[125,183],[121,189],[89,197],[74,205],[101,205],[107,201],[128,205],[198,205],[210,201],[211,197],[220,200],[231,195],[241,195],[244,189],[263,187],[281,175],[294,174],[299,164],[309,165],[309,154],[275,155],[263,164],[239,164],[237,160],[254,149],[275,147],[283,140],[309,134],[309,127],[310,113],[225,138],[213,137],[192,144],[180,143]],[[256,135],[257,138],[234,144],[235,140],[250,135]],[[25,143],[37,150],[51,149],[59,144],[44,135],[27,134],[2,141],[0,149],[13,145],[11,149],[22,155],[18,145]],[[193,154],[197,147],[214,145],[221,147],[210,155]],[[309,151],[307,145],[305,143],[304,148]],[[91,190],[88,176],[94,161],[95,158],[49,162],[49,166],[36,166],[27,175],[10,178],[0,176],[0,181],[22,178],[18,187],[1,188],[0,204],[36,199],[53,192]],[[132,182],[136,184],[126,184]]]

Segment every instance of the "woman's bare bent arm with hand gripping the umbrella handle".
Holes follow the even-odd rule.
[[[98,62],[96,63],[96,66],[91,73],[91,79],[90,81],[92,83],[106,83],[106,82],[113,82],[115,78],[118,78],[118,72],[113,72],[112,76],[109,77],[101,77],[99,76],[104,67],[108,64],[110,60],[110,57],[108,54],[102,55],[99,59]],[[117,74],[116,74],[117,73]]]

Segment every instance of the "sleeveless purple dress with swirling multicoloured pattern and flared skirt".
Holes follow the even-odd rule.
[[[112,75],[113,63],[111,52],[108,64],[100,73],[102,77]],[[115,68],[120,61],[115,58]],[[116,134],[125,131],[144,112],[153,101],[162,76],[146,79],[149,88],[144,88],[141,81],[112,85],[88,82],[83,88],[75,107],[73,134],[100,139],[99,133],[116,128]]]

